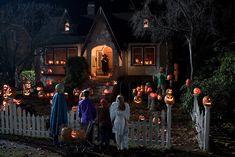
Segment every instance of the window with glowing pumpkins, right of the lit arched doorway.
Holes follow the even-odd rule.
[[[133,46],[131,48],[132,65],[155,65],[154,46]]]

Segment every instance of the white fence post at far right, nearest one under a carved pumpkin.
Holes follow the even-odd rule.
[[[209,132],[210,132],[210,107],[205,107],[205,117],[204,117],[204,142],[203,150],[209,151]]]

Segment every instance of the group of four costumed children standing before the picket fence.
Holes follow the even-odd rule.
[[[68,126],[67,103],[63,95],[63,84],[55,86],[55,95],[52,99],[52,110],[50,116],[50,135],[55,145],[60,144],[58,137],[60,129]],[[86,133],[87,140],[92,143],[93,126],[98,121],[99,141],[101,148],[109,145],[112,135],[115,135],[115,142],[118,150],[128,149],[128,121],[130,117],[129,104],[124,101],[122,95],[116,97],[116,101],[109,103],[106,98],[101,98],[100,107],[89,99],[90,91],[82,92],[82,99],[78,102],[77,115],[81,126]],[[111,104],[111,105],[110,105]],[[98,116],[97,116],[98,113]]]

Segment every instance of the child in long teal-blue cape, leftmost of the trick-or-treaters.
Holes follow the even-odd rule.
[[[57,84],[55,86],[55,95],[52,99],[52,109],[50,116],[50,135],[53,137],[55,145],[60,144],[58,136],[62,127],[68,125],[68,108],[66,97],[63,94],[64,85]]]

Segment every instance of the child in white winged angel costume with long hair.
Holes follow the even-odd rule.
[[[117,149],[128,149],[128,121],[130,118],[130,106],[124,102],[124,97],[118,95],[116,101],[110,106],[110,118],[113,124]]]

